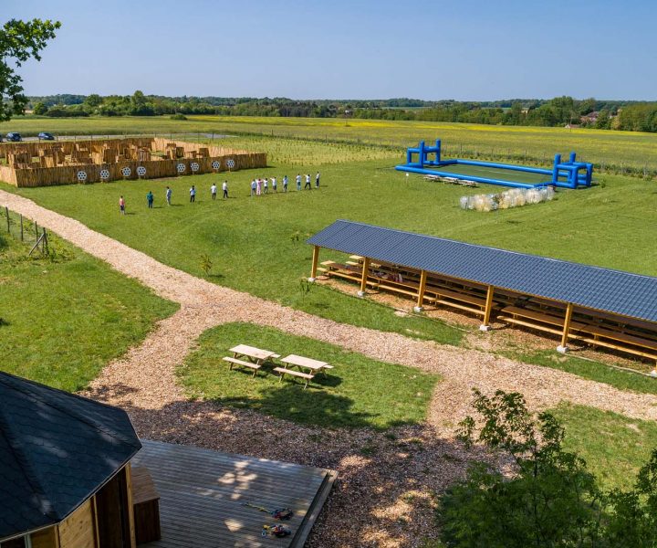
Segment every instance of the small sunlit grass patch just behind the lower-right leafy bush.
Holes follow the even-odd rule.
[[[607,489],[628,489],[657,448],[657,425],[593,407],[562,404],[552,413],[566,428],[564,447],[577,451]]]

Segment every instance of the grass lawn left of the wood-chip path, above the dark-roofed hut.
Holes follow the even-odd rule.
[[[54,235],[50,248],[54,260],[26,258],[0,234],[0,369],[76,391],[177,305]]]

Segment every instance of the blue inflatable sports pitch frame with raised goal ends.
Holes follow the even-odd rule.
[[[417,156],[417,160],[413,158],[415,155]],[[449,166],[456,164],[478,165],[481,167],[506,169],[529,174],[551,175],[552,178],[550,181],[531,184],[520,183],[519,181],[509,181],[506,179],[493,179],[468,174],[450,173]],[[527,165],[515,165],[513,163],[477,162],[476,160],[462,160],[458,158],[443,160],[441,158],[440,139],[436,139],[435,146],[426,146],[426,144],[421,141],[417,147],[407,149],[406,163],[395,166],[395,169],[407,173],[436,175],[439,177],[452,177],[454,179],[460,179],[464,181],[475,181],[477,183],[485,184],[500,184],[502,186],[511,186],[515,188],[536,188],[538,186],[547,185],[558,186],[560,188],[578,188],[579,186],[590,186],[593,176],[593,164],[578,162],[575,153],[570,153],[568,162],[563,162],[561,160],[561,154],[556,154],[554,165],[551,170],[541,169],[539,167],[529,167]]]

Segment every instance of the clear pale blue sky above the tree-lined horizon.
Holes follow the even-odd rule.
[[[28,95],[657,100],[657,0],[0,0]]]

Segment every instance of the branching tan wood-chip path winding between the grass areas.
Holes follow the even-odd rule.
[[[160,321],[141,346],[109,364],[89,388],[90,395],[128,409],[141,436],[339,470],[339,483],[310,545],[420,545],[422,538],[432,538],[430,493],[440,492],[462,475],[465,462],[476,456],[465,454],[452,436],[454,425],[470,412],[473,387],[485,393],[498,388],[519,391],[534,409],[566,400],[657,419],[654,395],[626,393],[489,353],[318,318],[167,267],[21,196],[0,191],[0,205],[36,220],[163,298],[180,303],[180,311]],[[386,435],[368,430],[328,432],[250,411],[186,401],[175,384],[174,367],[203,331],[227,321],[269,325],[443,375],[427,424],[393,429]],[[292,428],[293,444],[279,434]]]

